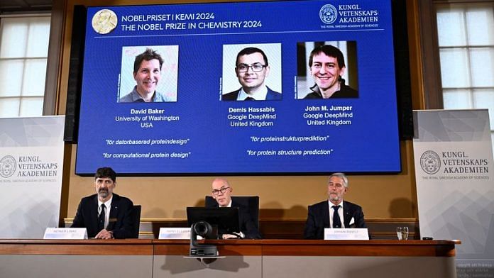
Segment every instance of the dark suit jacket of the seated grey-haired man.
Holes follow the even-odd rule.
[[[363,220],[361,206],[343,201],[343,217],[345,228],[367,228],[366,221]],[[350,226],[352,217],[355,222]],[[329,226],[328,200],[309,206],[304,238],[322,240],[324,239],[324,228],[331,228]]]

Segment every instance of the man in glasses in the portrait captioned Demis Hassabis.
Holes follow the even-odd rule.
[[[223,101],[280,100],[281,94],[264,84],[269,76],[268,57],[259,48],[244,48],[236,57],[235,73],[242,87],[221,96]]]

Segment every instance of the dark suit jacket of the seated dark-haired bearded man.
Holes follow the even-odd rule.
[[[114,238],[132,238],[132,201],[113,194],[109,223],[106,230],[112,231]],[[94,238],[98,233],[98,196],[93,194],[81,199],[71,228],[87,228],[87,236]]]

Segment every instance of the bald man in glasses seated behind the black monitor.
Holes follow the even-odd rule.
[[[212,183],[212,196],[216,200],[215,207],[234,207],[238,208],[238,218],[240,222],[240,237],[241,238],[261,238],[258,228],[253,222],[251,214],[246,206],[237,204],[231,199],[231,188],[226,179],[217,178]],[[237,235],[224,234],[221,238],[238,238]]]

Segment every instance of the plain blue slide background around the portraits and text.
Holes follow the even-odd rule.
[[[319,10],[331,4],[336,21],[323,23]],[[348,8],[348,4],[358,4]],[[101,9],[116,13],[118,25],[101,35],[92,18]],[[344,11],[373,11],[377,22],[358,20]],[[123,22],[124,16],[214,14],[210,19]],[[352,19],[357,18],[357,19]],[[256,21],[253,28],[186,28],[137,30],[138,25]],[[123,24],[136,26],[124,30]],[[366,26],[373,24],[373,26]],[[354,40],[358,57],[356,99],[297,100],[297,43]],[[223,45],[280,43],[281,101],[219,101]],[[124,46],[179,45],[177,102],[119,104]],[[90,7],[84,49],[84,70],[77,145],[77,174],[110,166],[120,174],[268,174],[319,172],[400,172],[397,104],[390,1],[270,1],[224,4]],[[295,88],[295,89],[294,89]],[[352,106],[351,124],[309,125],[307,106]],[[231,113],[231,109],[269,108],[270,113]],[[132,109],[164,109],[155,116],[177,121],[116,121],[136,116]],[[326,111],[329,112],[329,111]],[[229,115],[275,115],[273,126],[231,126]],[[137,116],[150,116],[149,113]],[[330,118],[324,118],[324,121]],[[336,119],[339,120],[339,119]],[[258,121],[259,122],[259,121]],[[324,140],[263,142],[259,138],[320,136]],[[259,140],[253,139],[253,137]],[[117,145],[118,140],[186,140],[185,144]],[[113,141],[113,143],[111,143]],[[281,155],[280,150],[325,150],[326,154]],[[273,152],[275,153],[273,155]],[[174,157],[173,154],[177,157]],[[153,157],[160,154],[165,157]],[[146,157],[147,155],[147,157]],[[167,156],[168,155],[168,156]],[[143,156],[136,158],[135,156]]]

